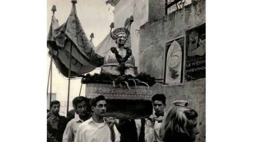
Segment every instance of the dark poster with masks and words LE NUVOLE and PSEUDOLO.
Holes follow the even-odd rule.
[[[186,31],[186,80],[205,78],[206,24]]]

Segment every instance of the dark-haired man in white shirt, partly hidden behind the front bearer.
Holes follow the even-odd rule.
[[[88,108],[90,107],[89,99],[84,96],[78,96],[73,100],[74,109],[79,115],[67,123],[63,134],[62,142],[74,142],[78,126],[89,119]]]

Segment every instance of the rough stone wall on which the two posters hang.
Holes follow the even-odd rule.
[[[163,78],[165,42],[185,36],[185,31],[206,22],[205,0],[197,0],[171,14],[149,21],[140,27],[138,70],[155,78]],[[189,107],[198,112],[199,135],[197,142],[205,142],[205,93],[206,79],[184,81],[183,85],[153,86],[153,94],[163,93],[167,97],[166,111],[173,101],[189,101]]]

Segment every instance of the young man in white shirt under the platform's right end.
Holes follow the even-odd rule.
[[[155,114],[150,115],[145,123],[145,142],[161,142],[160,128],[165,115],[166,97],[164,94],[156,94],[152,97]]]

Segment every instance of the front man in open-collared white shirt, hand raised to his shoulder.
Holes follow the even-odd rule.
[[[113,118],[104,118],[107,103],[104,96],[92,100],[93,116],[78,126],[75,142],[118,142],[120,137]]]

